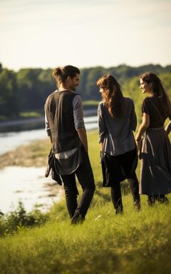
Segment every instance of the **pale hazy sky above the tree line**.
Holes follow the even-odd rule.
[[[171,0],[0,0],[0,63],[171,64]]]

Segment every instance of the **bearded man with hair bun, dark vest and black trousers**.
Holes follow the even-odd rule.
[[[52,143],[55,173],[63,181],[71,223],[85,220],[95,183],[88,157],[88,141],[83,121],[81,96],[76,91],[80,71],[75,66],[55,68],[58,89],[46,99],[46,131]],[[83,193],[77,202],[76,176]]]

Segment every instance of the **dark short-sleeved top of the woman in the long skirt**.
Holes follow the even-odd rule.
[[[142,101],[142,113],[150,116],[149,128],[162,128],[167,117],[171,118],[169,115],[164,115],[161,105],[161,98],[157,96],[146,97]]]

